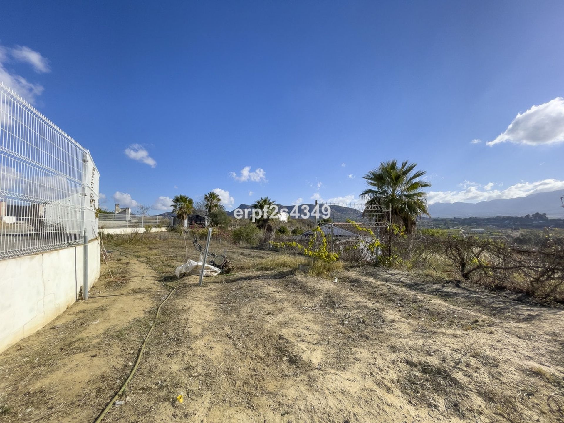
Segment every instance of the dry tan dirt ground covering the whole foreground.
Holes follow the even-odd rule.
[[[104,422],[564,421],[562,309],[373,267],[312,277],[217,243],[234,273],[199,287],[170,276],[178,234],[106,245],[114,279],[103,264],[87,302],[0,354],[0,421],[94,421],[151,325]]]

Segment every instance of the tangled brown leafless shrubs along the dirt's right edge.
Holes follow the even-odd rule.
[[[503,239],[415,235],[396,244],[404,268],[455,276],[545,301],[564,301],[564,239],[539,246],[514,246]],[[385,260],[381,260],[385,263]]]

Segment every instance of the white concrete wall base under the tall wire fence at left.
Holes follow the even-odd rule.
[[[0,352],[61,314],[78,298],[83,245],[0,260]],[[100,276],[100,244],[88,245],[89,287]]]

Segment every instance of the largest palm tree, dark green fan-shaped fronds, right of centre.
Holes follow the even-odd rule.
[[[423,189],[431,183],[420,179],[426,171],[415,170],[416,166],[407,160],[401,166],[397,160],[382,162],[364,175],[368,188],[360,194],[367,199],[367,206],[378,205],[389,210],[385,213],[386,221],[404,226],[407,233],[415,230],[418,216],[429,216]]]

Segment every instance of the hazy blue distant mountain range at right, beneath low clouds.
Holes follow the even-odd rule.
[[[564,190],[539,192],[505,200],[469,202],[435,202],[429,205],[431,217],[496,217],[546,213],[550,218],[564,218],[560,197]]]

